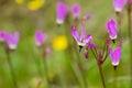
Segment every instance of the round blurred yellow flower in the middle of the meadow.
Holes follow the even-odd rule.
[[[68,41],[65,35],[58,35],[53,40],[53,48],[56,51],[64,51],[68,46]]]

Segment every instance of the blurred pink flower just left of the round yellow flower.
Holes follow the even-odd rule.
[[[37,46],[42,46],[46,40],[46,34],[43,34],[42,31],[36,31],[35,33],[35,43]]]

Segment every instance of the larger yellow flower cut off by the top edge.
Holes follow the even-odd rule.
[[[28,8],[32,11],[38,10],[45,3],[45,0],[32,0],[28,3]]]

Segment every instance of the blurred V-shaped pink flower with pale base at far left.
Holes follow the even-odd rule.
[[[20,40],[20,33],[15,32],[13,35],[11,33],[6,33],[4,37],[9,48],[15,50]]]

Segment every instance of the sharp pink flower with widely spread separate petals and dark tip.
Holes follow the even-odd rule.
[[[81,22],[81,34],[80,34],[80,37],[79,37],[78,32],[77,32],[75,26],[72,28],[72,34],[73,34],[74,38],[76,40],[76,42],[79,45],[79,52],[81,51],[82,46],[85,46],[86,44],[90,43],[90,40],[92,38],[91,35],[86,35],[82,22]]]

